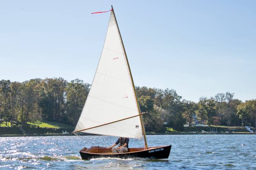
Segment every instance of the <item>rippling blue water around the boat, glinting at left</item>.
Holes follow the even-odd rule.
[[[82,160],[79,150],[110,146],[109,136],[0,138],[0,169],[255,169],[256,135],[148,135],[148,145],[173,145],[166,160]],[[130,147],[143,140],[130,139]]]

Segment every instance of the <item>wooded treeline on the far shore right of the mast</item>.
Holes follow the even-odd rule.
[[[208,125],[252,126],[256,122],[256,100],[243,103],[234,99],[234,93],[218,93],[215,97],[200,97],[199,102],[182,100],[175,90],[137,87],[141,111],[150,114],[144,116],[147,131],[164,131],[173,127],[184,130],[194,117]]]

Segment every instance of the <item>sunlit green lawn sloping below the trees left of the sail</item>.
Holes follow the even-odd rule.
[[[63,124],[63,123],[59,123],[59,122],[50,122],[50,121],[36,121],[36,122],[28,122],[28,124],[31,125],[37,125],[41,128],[74,128],[72,125],[68,125],[68,124]]]

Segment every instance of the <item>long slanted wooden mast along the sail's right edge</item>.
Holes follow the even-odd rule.
[[[117,26],[117,29],[118,29],[118,34],[119,34],[119,37],[120,37],[120,40],[121,40],[121,44],[122,44],[123,51],[124,51],[124,56],[125,56],[126,63],[127,63],[127,66],[128,66],[128,70],[129,70],[129,74],[130,74],[130,79],[131,79],[131,82],[132,82],[133,93],[134,93],[135,100],[136,100],[137,110],[138,110],[138,113],[140,114],[140,106],[139,106],[139,102],[138,102],[138,97],[137,97],[137,93],[135,91],[135,86],[134,86],[134,82],[133,82],[133,78],[132,78],[132,72],[130,70],[130,65],[129,65],[128,58],[127,58],[127,55],[126,55],[126,51],[125,51],[125,48],[124,48],[123,39],[121,37],[121,33],[120,33],[120,30],[119,30],[119,27],[118,27],[118,23],[116,21],[116,15],[115,15],[115,12],[114,12],[114,9],[113,9],[112,5],[111,5],[111,8],[112,8],[112,11],[113,11],[113,14],[114,14],[116,26]],[[143,133],[143,136],[144,136],[145,148],[148,149],[148,143],[147,143],[147,139],[146,139],[146,133],[145,133],[143,119],[142,119],[141,114],[140,114],[139,117],[140,117],[140,124],[141,124],[141,127],[142,127],[142,133]]]

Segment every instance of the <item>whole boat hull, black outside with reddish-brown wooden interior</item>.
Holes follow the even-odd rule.
[[[171,145],[144,148],[129,148],[126,153],[111,153],[110,149],[103,147],[83,148],[79,151],[82,159],[93,158],[151,158],[151,159],[166,159],[169,157]]]

